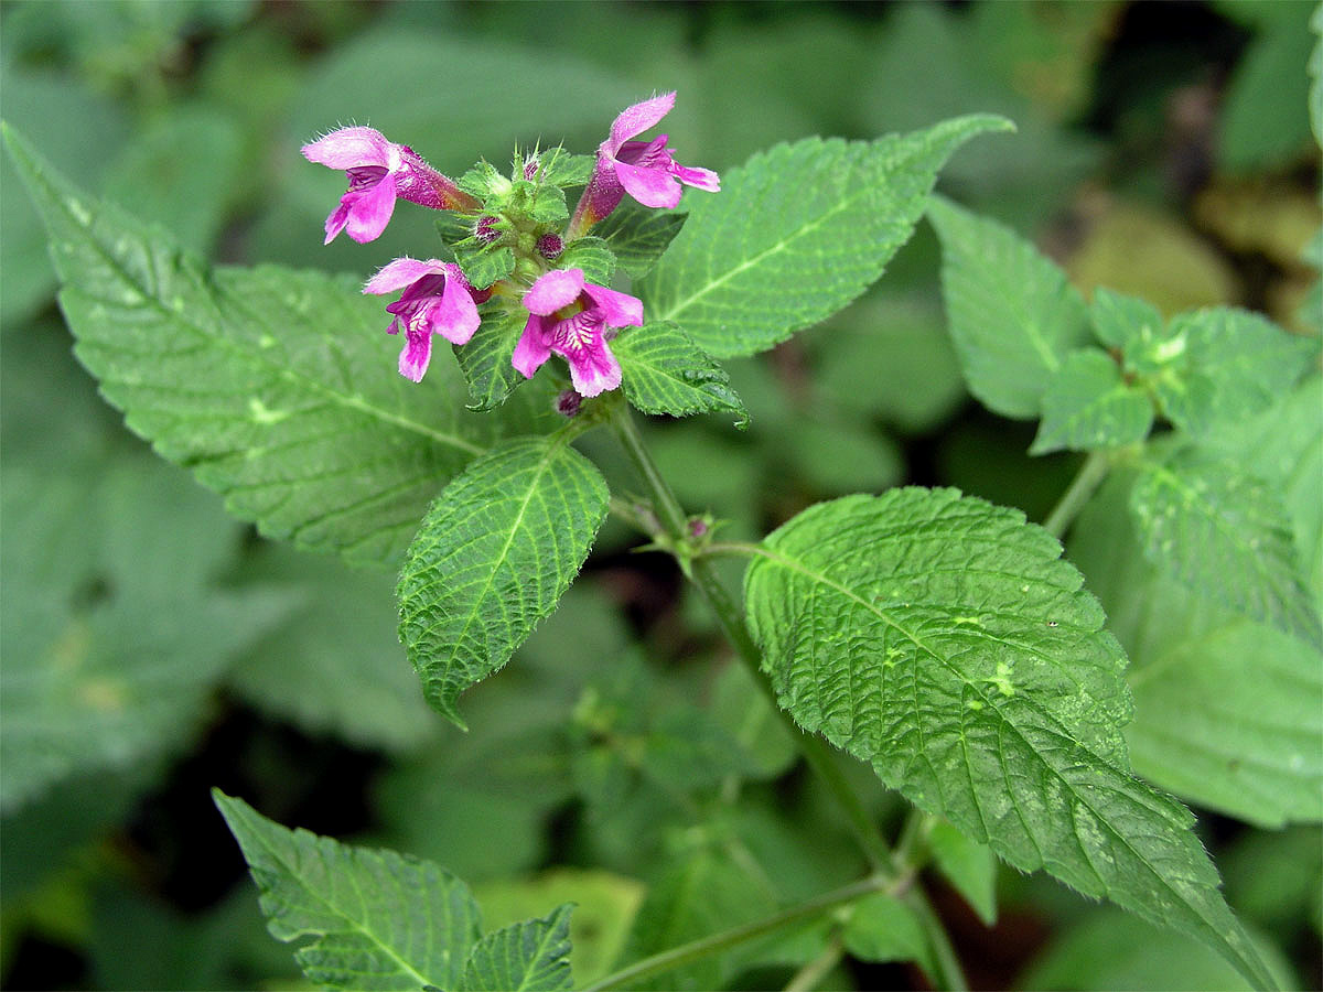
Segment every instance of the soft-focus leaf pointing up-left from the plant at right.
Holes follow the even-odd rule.
[[[970,392],[1003,417],[1039,415],[1066,356],[1089,339],[1065,272],[1009,227],[934,197],[942,296]]]

